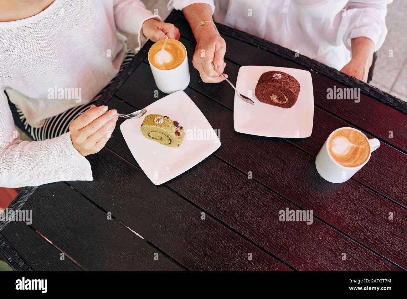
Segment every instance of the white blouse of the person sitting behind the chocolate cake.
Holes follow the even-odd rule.
[[[351,39],[368,37],[374,51],[379,50],[387,35],[387,4],[392,1],[219,0],[215,5],[214,0],[170,0],[168,9],[207,3],[215,22],[341,70],[351,58]]]

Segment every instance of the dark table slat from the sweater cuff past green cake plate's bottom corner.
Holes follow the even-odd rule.
[[[119,134],[116,129],[113,135]],[[202,210],[115,158],[107,149],[90,156],[95,180],[69,183],[189,270],[290,270],[209,215],[202,220]],[[109,161],[115,161],[115,167],[109,167]],[[253,260],[248,260],[249,253]]]

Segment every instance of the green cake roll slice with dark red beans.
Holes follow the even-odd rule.
[[[168,116],[160,114],[147,115],[141,124],[144,137],[166,146],[178,147],[184,139],[184,128]]]

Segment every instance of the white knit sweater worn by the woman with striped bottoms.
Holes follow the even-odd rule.
[[[41,127],[88,103],[117,74],[127,46],[116,28],[138,35],[141,45],[142,23],[152,17],[139,0],[55,0],[33,17],[0,22],[0,187],[93,179],[69,132],[20,140],[4,90],[28,123]],[[80,90],[81,100],[53,99],[55,87]]]

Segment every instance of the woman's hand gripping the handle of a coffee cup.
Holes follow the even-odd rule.
[[[157,19],[148,19],[143,23],[142,31],[145,37],[152,41],[172,38],[179,39],[179,30],[173,24],[164,23]]]

